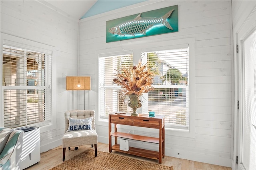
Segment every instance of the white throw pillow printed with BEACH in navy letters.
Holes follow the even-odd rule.
[[[93,117],[88,117],[86,119],[73,119],[71,117],[68,118],[69,120],[69,125],[68,125],[68,130],[93,130],[92,129],[92,118]]]

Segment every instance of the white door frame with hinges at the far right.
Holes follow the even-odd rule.
[[[241,147],[242,147],[242,110],[243,110],[243,51],[242,43],[243,41],[256,30],[256,20],[255,20],[255,10],[250,14],[241,28],[234,32],[236,43],[238,45],[238,53],[234,53],[234,155],[232,169],[244,170],[241,164]],[[239,101],[239,109],[237,109],[237,101]],[[238,156],[238,164],[236,163],[236,156]]]

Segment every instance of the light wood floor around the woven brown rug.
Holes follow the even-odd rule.
[[[67,148],[65,160],[69,160],[70,158],[88,149],[91,149],[90,145],[80,146],[78,150],[74,150],[74,147],[72,147],[71,150],[74,150],[74,151],[68,150]],[[108,152],[108,144],[98,143],[97,149],[98,151]],[[142,158],[139,156],[133,156],[133,155],[124,154],[116,151],[112,151],[112,153],[158,164],[158,160]],[[57,166],[58,164],[61,164],[61,163],[62,163],[62,146],[59,146],[47,152],[41,153],[40,162],[26,168],[26,170],[49,170],[50,168],[53,168],[54,166]],[[231,168],[224,167],[224,166],[205,164],[202,162],[179,159],[179,158],[174,158],[170,156],[165,156],[163,158],[162,165],[173,166],[174,170],[231,170]]]

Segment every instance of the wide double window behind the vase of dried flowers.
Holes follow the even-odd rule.
[[[162,44],[169,44],[164,46]],[[152,47],[150,48],[150,46]],[[148,114],[155,111],[156,115],[165,115],[165,127],[178,129],[188,134],[172,132],[172,135],[185,135],[194,137],[194,38],[160,42],[158,47],[155,43],[147,43],[141,49],[142,63],[154,69],[154,90],[144,93],[140,100],[142,107],[138,112]],[[162,45],[162,46],[160,46]],[[191,47],[191,49],[189,49]],[[134,46],[134,51],[139,51]],[[191,54],[191,56],[190,56]],[[134,61],[136,60],[136,61]],[[134,58],[132,52],[122,55],[99,55],[99,119],[108,120],[108,114],[114,112],[132,112],[127,106],[128,97],[122,96],[120,85],[113,84],[115,69],[122,66],[138,64],[138,58]],[[193,113],[193,114],[191,114]]]

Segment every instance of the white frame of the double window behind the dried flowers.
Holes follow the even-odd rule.
[[[139,45],[138,45],[139,44]],[[177,40],[163,40],[163,41],[149,41],[147,43],[145,42],[140,42],[140,41],[136,41],[134,43],[123,43],[122,47],[120,47],[120,51],[123,52],[124,49],[132,49],[133,51],[133,64],[137,65],[138,61],[141,59],[141,53],[143,51],[161,51],[161,50],[166,50],[166,49],[173,49],[173,47],[179,47],[180,45],[184,45],[184,44],[188,44],[189,47],[189,74],[190,74],[190,86],[189,86],[189,101],[190,101],[190,105],[189,105],[189,111],[190,111],[190,116],[189,116],[189,131],[188,130],[184,130],[184,129],[177,129],[177,128],[170,128],[170,127],[165,127],[166,129],[166,134],[168,135],[173,135],[173,136],[183,136],[183,137],[189,137],[189,138],[195,138],[195,117],[196,117],[196,113],[195,113],[195,105],[196,105],[196,97],[195,97],[195,91],[196,91],[196,87],[195,87],[195,38],[183,38],[183,39],[177,39]],[[108,56],[114,54],[114,55],[121,55],[121,53],[118,52],[114,52],[114,50],[119,51],[118,47],[114,48],[114,49],[110,49],[112,51],[108,50]],[[104,56],[106,55],[106,53],[104,53],[106,51],[98,51],[96,52],[97,57],[99,56]],[[97,74],[98,76],[98,74]],[[98,89],[99,92],[99,89]],[[98,93],[98,103],[99,103],[99,97],[100,94]],[[99,110],[99,106],[98,106],[98,110]],[[140,108],[137,109],[140,112]],[[96,121],[96,123],[98,125],[104,125],[107,126],[106,121],[102,121],[99,119],[99,115],[98,115],[98,120]],[[103,123],[104,122],[104,123]],[[133,127],[134,130],[141,130],[141,128],[139,127]],[[154,132],[154,130],[150,130],[147,129],[147,131],[152,131]]]

